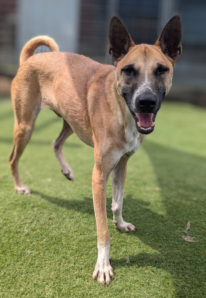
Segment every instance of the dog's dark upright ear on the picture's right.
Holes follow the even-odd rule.
[[[160,46],[165,56],[173,61],[181,54],[181,23],[179,15],[175,15],[163,29],[156,46]]]

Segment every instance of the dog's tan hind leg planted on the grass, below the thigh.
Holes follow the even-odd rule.
[[[14,141],[13,151],[10,155],[10,167],[13,175],[15,189],[18,193],[29,194],[31,190],[22,183],[19,176],[18,164],[19,158],[21,157],[26,145],[28,144],[33,128],[36,116],[39,111],[32,113],[27,111],[24,113],[23,110],[17,111],[14,109],[16,117],[14,124]]]

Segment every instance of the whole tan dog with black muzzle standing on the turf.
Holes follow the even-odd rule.
[[[102,285],[108,285],[113,277],[106,213],[107,179],[111,173],[116,228],[122,232],[136,231],[135,226],[122,219],[127,161],[145,135],[154,130],[162,98],[170,90],[174,61],[181,53],[179,16],[169,21],[154,46],[135,45],[119,19],[113,17],[109,41],[115,66],[58,52],[56,43],[47,36],[33,38],[21,52],[20,68],[12,84],[15,126],[10,167],[18,193],[31,193],[19,177],[18,162],[41,108],[48,107],[64,119],[54,150],[68,179],[73,180],[73,173],[62,155],[65,139],[75,132],[94,148],[92,189],[98,259],[93,279]],[[33,55],[40,45],[53,52]]]

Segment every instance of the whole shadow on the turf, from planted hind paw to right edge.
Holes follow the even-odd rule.
[[[149,203],[138,197],[124,196],[123,213],[126,221],[137,224],[138,231],[129,237],[138,237],[147,246],[158,251],[156,254],[137,253],[122,259],[112,258],[112,266],[152,266],[169,272],[173,277],[177,297],[185,297],[191,291],[204,291],[202,275],[205,268],[205,174],[206,159],[181,152],[151,141],[144,142],[144,150],[154,167],[162,203],[166,215],[149,209]],[[37,192],[36,192],[37,193]],[[60,207],[94,215],[92,198],[84,201],[64,200],[37,193],[42,198]],[[107,215],[112,218],[111,197],[107,199]],[[132,212],[131,212],[132,208]],[[199,243],[188,243],[182,239],[187,221],[191,222],[189,235],[199,238]],[[201,240],[202,239],[202,240]],[[195,249],[194,249],[195,246]],[[192,277],[192,278],[191,278]],[[197,288],[198,284],[198,288]],[[194,292],[195,293],[195,292]],[[203,296],[202,296],[203,297]]]

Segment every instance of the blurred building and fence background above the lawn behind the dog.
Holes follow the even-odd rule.
[[[54,38],[62,52],[100,63],[108,55],[108,29],[118,16],[136,44],[154,44],[173,15],[182,22],[182,55],[166,100],[206,105],[206,1],[203,0],[0,0],[0,94],[10,94],[24,44],[36,35]],[[37,51],[47,51],[41,47]]]

